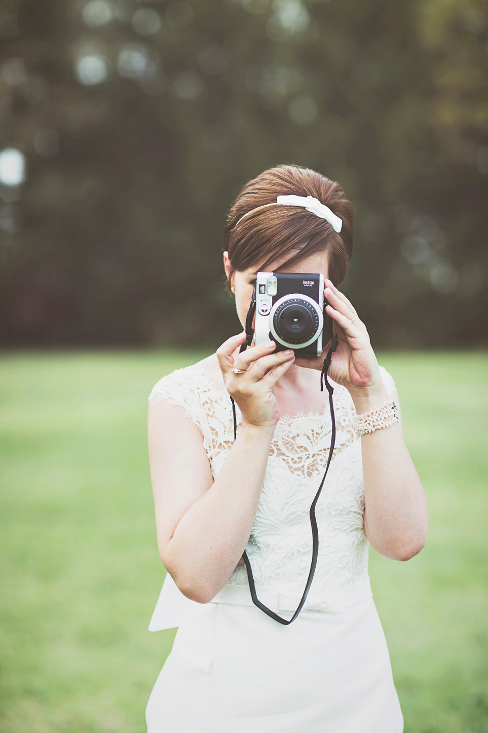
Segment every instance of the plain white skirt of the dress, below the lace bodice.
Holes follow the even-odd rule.
[[[372,598],[290,626],[255,606],[192,608],[146,721],[148,733],[402,733]]]

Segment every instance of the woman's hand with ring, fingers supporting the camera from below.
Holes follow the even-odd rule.
[[[274,341],[253,346],[235,355],[246,334],[231,336],[219,349],[217,359],[228,393],[241,410],[243,424],[274,430],[279,420],[274,385],[295,361],[292,350],[273,353]],[[233,368],[244,374],[234,374]]]

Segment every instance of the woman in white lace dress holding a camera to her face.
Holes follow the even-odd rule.
[[[282,205],[283,195],[316,202]],[[331,443],[320,392],[326,352],[305,359],[269,342],[239,353],[243,333],[151,392],[151,477],[168,576],[150,628],[179,630],[149,699],[149,733],[403,729],[367,551],[369,542],[393,559],[416,555],[427,504],[392,404],[394,381],[337,289],[353,220],[337,183],[279,166],[244,186],[225,227],[225,273],[243,325],[258,271],[324,273],[339,339],[329,367],[337,438],[316,509],[318,564],[293,624],[252,604],[241,556],[246,550],[258,598],[290,618],[307,580],[308,512]]]

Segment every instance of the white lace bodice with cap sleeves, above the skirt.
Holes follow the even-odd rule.
[[[380,369],[388,395],[394,397],[394,381],[383,367]],[[348,391],[332,385],[337,437],[315,512],[320,546],[311,594],[317,597],[341,592],[367,579],[369,545],[364,534],[361,439],[353,432],[354,407]],[[217,477],[233,443],[229,397],[195,365],[163,377],[149,399],[165,399],[184,408],[203,433],[203,447]],[[239,430],[237,406],[236,410]],[[328,405],[323,412],[285,416],[277,424],[246,548],[257,587],[290,592],[304,588],[312,555],[309,507],[325,471],[330,435]],[[242,562],[228,582],[247,585]]]

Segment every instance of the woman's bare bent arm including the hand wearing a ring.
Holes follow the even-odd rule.
[[[149,405],[159,554],[181,592],[198,603],[222,589],[247,545],[279,419],[274,384],[293,364],[293,353],[272,354],[274,344],[262,345],[239,355],[239,369],[249,369],[233,375],[232,354],[243,340],[229,339],[217,352],[242,422],[215,481],[202,433],[183,408],[164,401]]]

